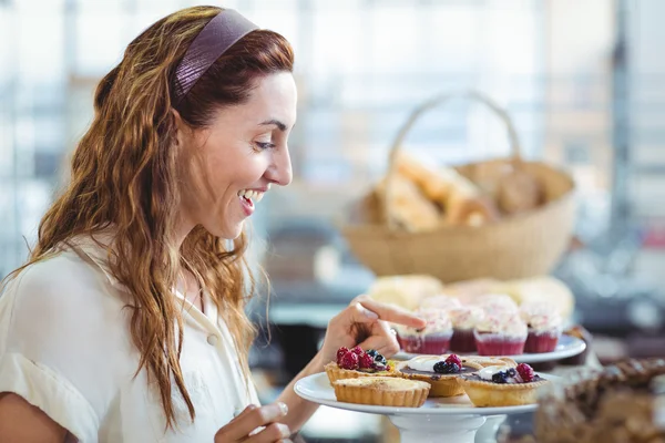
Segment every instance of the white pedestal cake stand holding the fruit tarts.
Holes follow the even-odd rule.
[[[548,380],[559,378],[541,374]],[[305,400],[348,411],[387,415],[399,429],[401,443],[495,442],[497,431],[509,414],[535,411],[535,404],[510,408],[475,408],[467,395],[428,399],[421,408],[388,408],[342,403],[325,373],[300,379],[295,391]]]

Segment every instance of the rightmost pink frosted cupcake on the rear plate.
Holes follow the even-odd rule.
[[[524,352],[543,353],[556,349],[563,320],[554,307],[546,303],[523,305],[520,316],[529,331]]]

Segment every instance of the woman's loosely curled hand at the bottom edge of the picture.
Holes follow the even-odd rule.
[[[284,403],[245,408],[235,419],[215,434],[215,443],[275,443],[290,442],[290,430],[284,420],[288,408]]]

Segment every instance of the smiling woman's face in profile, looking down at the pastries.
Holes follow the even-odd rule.
[[[290,73],[257,80],[249,100],[217,111],[204,130],[178,136],[184,148],[181,218],[233,239],[270,185],[291,181],[287,138],[296,122]]]

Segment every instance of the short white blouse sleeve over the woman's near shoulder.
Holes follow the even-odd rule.
[[[137,361],[122,301],[110,288],[72,249],[10,279],[0,296],[0,391],[19,393],[70,431],[95,435],[119,380],[130,380]]]

